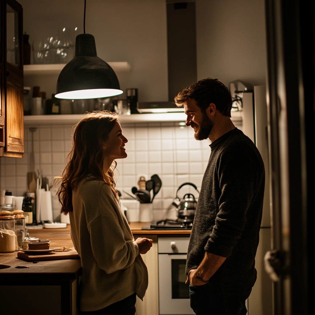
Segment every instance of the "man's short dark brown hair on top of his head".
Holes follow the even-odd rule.
[[[203,112],[210,103],[213,103],[223,116],[231,117],[232,98],[230,91],[218,79],[200,80],[182,90],[174,98],[177,106],[182,106],[188,99],[195,100]]]

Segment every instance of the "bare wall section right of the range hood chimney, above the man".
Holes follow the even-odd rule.
[[[266,84],[264,0],[197,0],[197,77]]]

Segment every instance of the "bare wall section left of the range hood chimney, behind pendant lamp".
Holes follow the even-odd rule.
[[[63,27],[78,27],[83,33],[83,0],[20,0],[24,31],[34,39],[53,36]],[[167,101],[166,4],[164,0],[89,0],[86,32],[95,37],[98,56],[105,61],[128,61],[129,73],[118,73],[120,86],[139,89],[139,101]],[[40,84],[54,92],[58,76],[25,85]],[[38,83],[38,81],[40,83]],[[52,91],[52,92],[50,92]],[[124,94],[125,95],[125,94]],[[124,96],[123,96],[124,97]]]

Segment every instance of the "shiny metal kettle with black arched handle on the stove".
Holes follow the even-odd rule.
[[[195,184],[183,183],[178,187],[176,192],[176,198],[172,204],[177,208],[178,221],[181,221],[183,223],[192,223],[194,221],[197,207],[197,201],[195,200],[195,196],[191,193],[187,193],[184,195],[183,199],[180,200],[180,198],[178,198],[177,195],[180,188],[185,185],[190,185],[194,187],[196,191],[199,193],[197,186]]]

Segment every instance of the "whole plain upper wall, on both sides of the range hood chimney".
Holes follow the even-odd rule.
[[[77,26],[83,32],[83,0],[19,2],[30,44],[63,27]],[[117,75],[123,90],[139,89],[140,101],[168,100],[165,2],[87,1],[86,32],[95,36],[98,56],[131,64],[131,72]],[[264,0],[196,0],[196,24],[198,80],[215,77],[226,85],[236,79],[252,86],[266,84]],[[178,49],[187,44],[178,43]],[[50,94],[57,76],[25,80],[26,85],[38,82]]]

